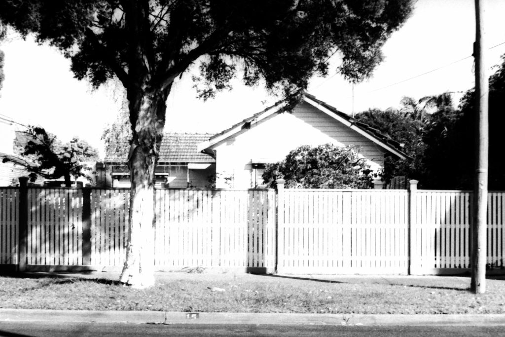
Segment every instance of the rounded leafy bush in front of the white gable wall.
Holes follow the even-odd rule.
[[[287,188],[373,188],[371,170],[356,148],[332,144],[291,151],[283,161],[267,165],[263,179],[270,187],[284,179]]]

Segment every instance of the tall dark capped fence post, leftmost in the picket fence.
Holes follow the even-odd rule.
[[[28,250],[28,177],[19,177],[18,271],[26,271]]]

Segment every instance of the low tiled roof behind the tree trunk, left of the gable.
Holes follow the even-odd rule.
[[[212,136],[211,133],[166,133],[160,148],[160,163],[214,163],[211,156],[198,152],[196,146]],[[129,149],[129,147],[125,147]],[[107,157],[106,162],[126,162],[128,153]]]

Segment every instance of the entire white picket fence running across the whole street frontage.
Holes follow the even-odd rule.
[[[91,188],[88,197],[85,190],[27,189],[28,266],[121,268],[129,190]],[[0,188],[4,265],[19,262],[19,196],[18,188]],[[157,270],[437,274],[470,267],[468,191],[157,189],[155,204]],[[503,268],[505,193],[490,192],[488,204],[488,266]]]

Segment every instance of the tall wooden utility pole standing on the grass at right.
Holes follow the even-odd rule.
[[[488,176],[488,89],[484,58],[484,10],[481,0],[475,0],[475,114],[476,114],[476,163],[474,186],[474,217],[472,227],[472,282],[470,289],[475,294],[486,291],[486,227],[487,227],[487,176]]]

